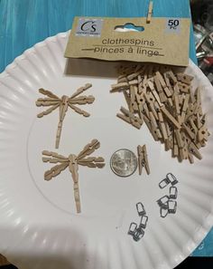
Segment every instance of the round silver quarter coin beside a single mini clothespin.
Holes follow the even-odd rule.
[[[137,168],[137,158],[134,152],[129,149],[117,150],[110,159],[110,166],[113,172],[119,177],[133,175]]]

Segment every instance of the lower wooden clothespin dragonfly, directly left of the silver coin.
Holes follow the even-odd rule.
[[[64,157],[56,152],[42,151],[43,162],[60,163],[50,170],[44,173],[45,180],[51,180],[51,178],[57,177],[61,171],[69,167],[69,171],[73,179],[74,198],[76,202],[77,212],[80,213],[80,197],[79,197],[79,165],[86,166],[88,168],[103,168],[105,166],[105,159],[102,157],[88,157],[96,149],[100,147],[100,142],[97,139],[93,139],[88,145],[79,152],[79,155],[70,154],[69,157]]]

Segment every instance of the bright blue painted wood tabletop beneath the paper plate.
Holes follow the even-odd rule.
[[[0,0],[0,72],[48,36],[71,28],[75,15],[144,16],[149,0]],[[153,16],[190,17],[188,0],[153,0]],[[190,58],[197,62],[190,33]],[[213,256],[213,230],[193,253]]]

